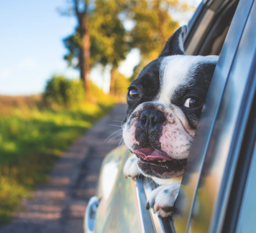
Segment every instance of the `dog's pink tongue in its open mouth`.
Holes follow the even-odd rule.
[[[140,156],[142,158],[145,158],[147,161],[155,161],[155,160],[172,160],[168,156],[163,155],[163,153],[160,153],[159,151],[155,150],[151,146],[140,148],[136,151],[133,151],[134,154],[137,156]]]

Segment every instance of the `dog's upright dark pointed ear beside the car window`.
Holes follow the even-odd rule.
[[[184,55],[184,39],[186,37],[187,27],[186,25],[179,27],[173,35],[166,42],[165,47],[159,57],[166,57],[171,55]]]

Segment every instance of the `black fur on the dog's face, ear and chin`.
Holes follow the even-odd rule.
[[[188,123],[191,125],[191,128],[195,129],[198,124],[198,119],[206,98],[206,93],[209,89],[209,84],[214,73],[216,62],[209,62],[209,60],[207,60],[205,62],[193,64],[191,66],[191,70],[189,70],[186,74],[188,75],[188,79],[184,79],[186,80],[186,83],[180,82],[183,84],[180,84],[179,87],[175,87],[174,93],[172,92],[173,95],[170,98],[170,106],[152,102],[157,101],[158,94],[160,93],[163,80],[163,67],[167,65],[165,64],[165,57],[175,54],[184,55],[182,44],[185,36],[186,27],[181,27],[180,29],[176,30],[173,36],[168,39],[163,52],[160,54],[157,60],[150,62],[146,67],[144,67],[137,76],[136,80],[134,80],[129,86],[127,93],[127,117],[124,119],[124,123],[127,123],[127,130],[129,130],[131,125],[136,128],[132,137],[134,137],[137,143],[132,145],[132,150],[150,146],[163,155],[168,156],[168,154],[161,148],[160,137],[163,134],[163,127],[168,124],[168,121],[166,120],[168,117],[168,111],[166,108],[173,108],[173,105],[177,106],[183,111]],[[168,59],[166,59],[166,61],[168,61]],[[134,88],[139,92],[140,98],[131,98],[129,96],[129,90]],[[183,105],[186,103],[188,98],[198,100],[201,105],[198,105],[195,108],[186,108]],[[139,105],[141,107],[139,108],[140,110],[134,111]],[[154,130],[150,130],[149,128],[146,128],[146,126],[142,127],[140,124],[140,116],[142,112],[145,110],[156,109],[157,111],[162,111],[165,119],[158,123]],[[170,117],[172,118],[172,116]],[[127,122],[128,118],[129,122]],[[175,134],[175,132],[173,133]],[[182,140],[180,139],[180,141]],[[188,143],[191,143],[191,140],[188,141]],[[168,146],[173,148],[172,143],[170,143]],[[138,166],[143,173],[149,176],[168,179],[173,176],[180,176],[183,173],[186,166],[186,158],[183,160],[172,159],[171,161],[165,161],[165,163],[163,163],[163,165],[161,163],[160,166],[155,166],[155,164],[145,163],[144,161],[139,160]]]

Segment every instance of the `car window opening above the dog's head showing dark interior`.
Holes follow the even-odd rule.
[[[204,1],[197,19],[192,19],[186,37],[186,54],[219,55],[227,36],[238,0]]]

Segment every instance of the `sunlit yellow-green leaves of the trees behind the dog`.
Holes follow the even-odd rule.
[[[73,0],[75,1],[75,0]],[[86,0],[80,0],[86,1]],[[132,48],[140,49],[141,62],[134,67],[132,79],[141,67],[157,58],[165,42],[178,28],[173,17],[175,9],[188,10],[178,0],[95,0],[86,22],[90,34],[90,67],[101,64],[111,65],[111,92],[117,83],[114,73],[120,62]],[[132,29],[125,29],[124,22],[132,22]],[[83,39],[77,27],[75,32],[64,39],[68,54],[68,65],[81,68]]]

